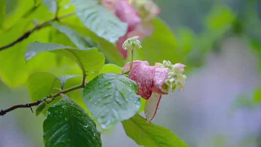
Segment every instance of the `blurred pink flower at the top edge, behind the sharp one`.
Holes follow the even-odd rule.
[[[160,9],[153,0],[103,0],[102,5],[116,14],[119,20],[128,24],[126,34],[119,37],[117,42],[117,49],[125,59],[127,50],[123,50],[121,45],[132,36],[144,38],[151,35],[151,20],[160,13]]]

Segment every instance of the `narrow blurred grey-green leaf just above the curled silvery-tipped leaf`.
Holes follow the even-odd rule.
[[[97,47],[90,37],[78,33],[69,26],[60,25],[57,23],[52,23],[52,26],[57,28],[60,32],[65,33],[65,35],[70,38],[71,42],[73,42],[80,49]]]

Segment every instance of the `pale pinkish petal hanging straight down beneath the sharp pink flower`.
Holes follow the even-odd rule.
[[[160,100],[161,95],[156,93],[152,93],[151,97],[148,100],[146,100],[144,113],[147,123],[149,123],[156,115],[156,112],[158,111],[158,107],[160,104]]]

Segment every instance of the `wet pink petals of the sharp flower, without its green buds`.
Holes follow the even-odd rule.
[[[127,63],[123,68],[126,70],[129,69],[130,63]],[[129,73],[129,78],[137,83],[137,95],[142,96],[144,99],[148,99],[144,109],[148,122],[156,115],[161,95],[167,94],[167,91],[162,90],[167,75],[168,68],[149,66],[147,61],[133,61],[133,67]]]

